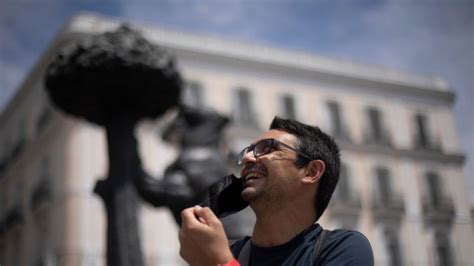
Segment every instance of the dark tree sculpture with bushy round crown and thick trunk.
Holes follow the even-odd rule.
[[[134,127],[178,103],[182,81],[174,59],[124,25],[66,47],[48,66],[45,83],[61,110],[105,127],[109,172],[94,192],[107,212],[107,264],[143,265],[133,186],[142,170]]]

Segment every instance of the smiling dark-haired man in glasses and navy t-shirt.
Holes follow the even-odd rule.
[[[270,130],[242,150],[239,163],[241,195],[257,218],[252,236],[229,248],[209,208],[185,209],[180,254],[189,264],[373,265],[361,233],[334,230],[323,237],[316,224],[340,168],[339,148],[318,127],[275,117]]]

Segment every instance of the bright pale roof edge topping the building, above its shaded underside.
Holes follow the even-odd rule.
[[[102,33],[114,30],[123,21],[93,13],[81,13],[73,17],[66,32]],[[187,32],[178,32],[157,26],[134,24],[151,42],[164,47],[193,51],[210,55],[260,62],[271,65],[283,65],[307,71],[344,76],[367,81],[398,84],[423,88],[439,92],[449,91],[448,83],[438,76],[424,76],[387,67],[355,63],[314,54],[289,51],[229,41],[216,37],[203,36]]]

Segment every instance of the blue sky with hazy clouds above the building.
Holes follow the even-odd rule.
[[[474,203],[474,1],[0,0],[0,109],[79,11],[439,75],[457,94]]]

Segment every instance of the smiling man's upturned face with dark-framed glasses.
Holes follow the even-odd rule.
[[[296,148],[296,137],[279,130],[269,130],[259,136],[253,144],[264,139],[276,139]],[[297,168],[295,151],[284,145],[276,145],[268,154],[254,157],[252,151],[245,154],[241,169],[244,189],[242,197],[252,203],[278,204],[298,193],[298,185],[304,168]]]

